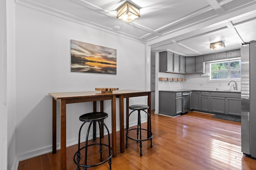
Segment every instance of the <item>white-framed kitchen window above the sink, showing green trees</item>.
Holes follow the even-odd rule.
[[[241,60],[209,63],[210,80],[240,80]]]

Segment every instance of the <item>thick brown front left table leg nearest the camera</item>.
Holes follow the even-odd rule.
[[[60,100],[60,166],[66,170],[66,99]]]

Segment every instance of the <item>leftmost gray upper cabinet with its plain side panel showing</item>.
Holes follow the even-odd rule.
[[[159,71],[173,72],[173,54],[168,51],[159,53]]]

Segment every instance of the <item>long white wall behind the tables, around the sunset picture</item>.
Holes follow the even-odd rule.
[[[94,91],[95,87],[146,90],[146,81],[150,81],[146,80],[146,68],[150,65],[146,65],[148,57],[144,43],[17,4],[15,17],[15,137],[18,160],[52,150],[52,98],[49,92]],[[71,39],[116,49],[117,74],[70,72]],[[146,102],[146,97],[130,98],[130,104]],[[118,103],[117,99],[117,113]],[[59,111],[59,106],[57,109]],[[81,125],[78,117],[90,111],[92,102],[67,105],[67,146],[78,142]],[[105,102],[104,111],[111,113],[110,101]],[[106,124],[111,131],[110,114]],[[57,132],[59,143],[59,128]]]

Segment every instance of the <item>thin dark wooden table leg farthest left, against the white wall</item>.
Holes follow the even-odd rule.
[[[52,154],[55,154],[57,152],[56,150],[56,145],[57,145],[57,141],[56,141],[56,121],[57,121],[57,111],[56,111],[56,107],[57,107],[57,102],[54,98],[52,98]]]

